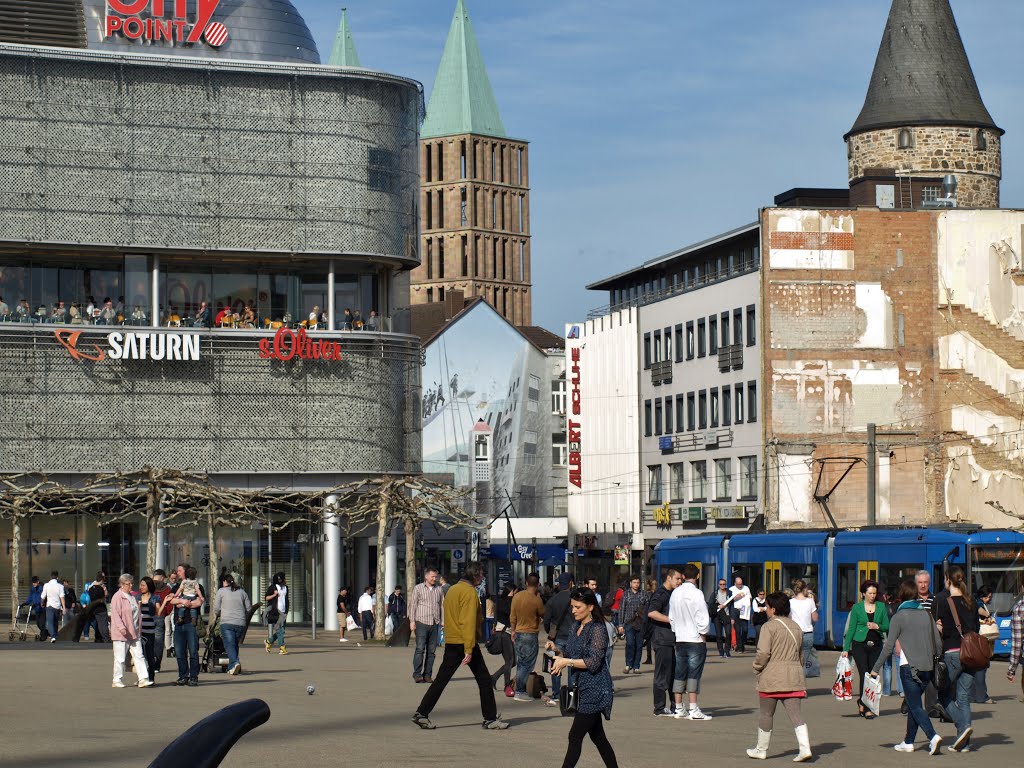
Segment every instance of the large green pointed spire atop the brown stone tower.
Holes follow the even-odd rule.
[[[436,138],[460,133],[507,135],[463,0],[455,7],[420,135]]]

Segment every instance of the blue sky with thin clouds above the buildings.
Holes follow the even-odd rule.
[[[341,3],[293,0],[324,60]],[[341,0],[364,67],[429,97],[455,0]],[[846,186],[843,134],[890,0],[466,0],[509,135],[530,142],[534,323],[607,303],[598,279],[757,220],[795,186]],[[1002,206],[1024,208],[1020,0],[952,0],[1007,131]]]

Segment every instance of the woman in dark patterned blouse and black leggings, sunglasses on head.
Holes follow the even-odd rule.
[[[575,714],[569,727],[568,749],[562,768],[580,762],[583,740],[590,735],[604,761],[605,768],[617,768],[614,750],[604,733],[604,720],[611,720],[614,693],[607,664],[608,633],[605,617],[591,589],[574,590],[570,595],[572,626],[565,655],[555,658],[552,674],[569,670],[568,685],[575,691]],[[603,720],[602,720],[603,718]]]

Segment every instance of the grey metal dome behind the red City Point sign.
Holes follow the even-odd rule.
[[[187,0],[188,16],[196,17],[196,0]],[[121,36],[103,39],[106,0],[82,0],[90,50],[121,53],[154,53],[202,58],[234,58],[255,61],[319,63],[319,53],[309,28],[289,0],[220,0],[213,22],[227,28],[227,40],[219,48],[198,43],[143,45]],[[167,2],[169,17],[173,3]]]

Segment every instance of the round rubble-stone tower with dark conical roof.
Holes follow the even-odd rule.
[[[864,108],[845,136],[851,204],[920,208],[952,174],[958,207],[998,208],[1002,133],[949,0],[893,0]]]

